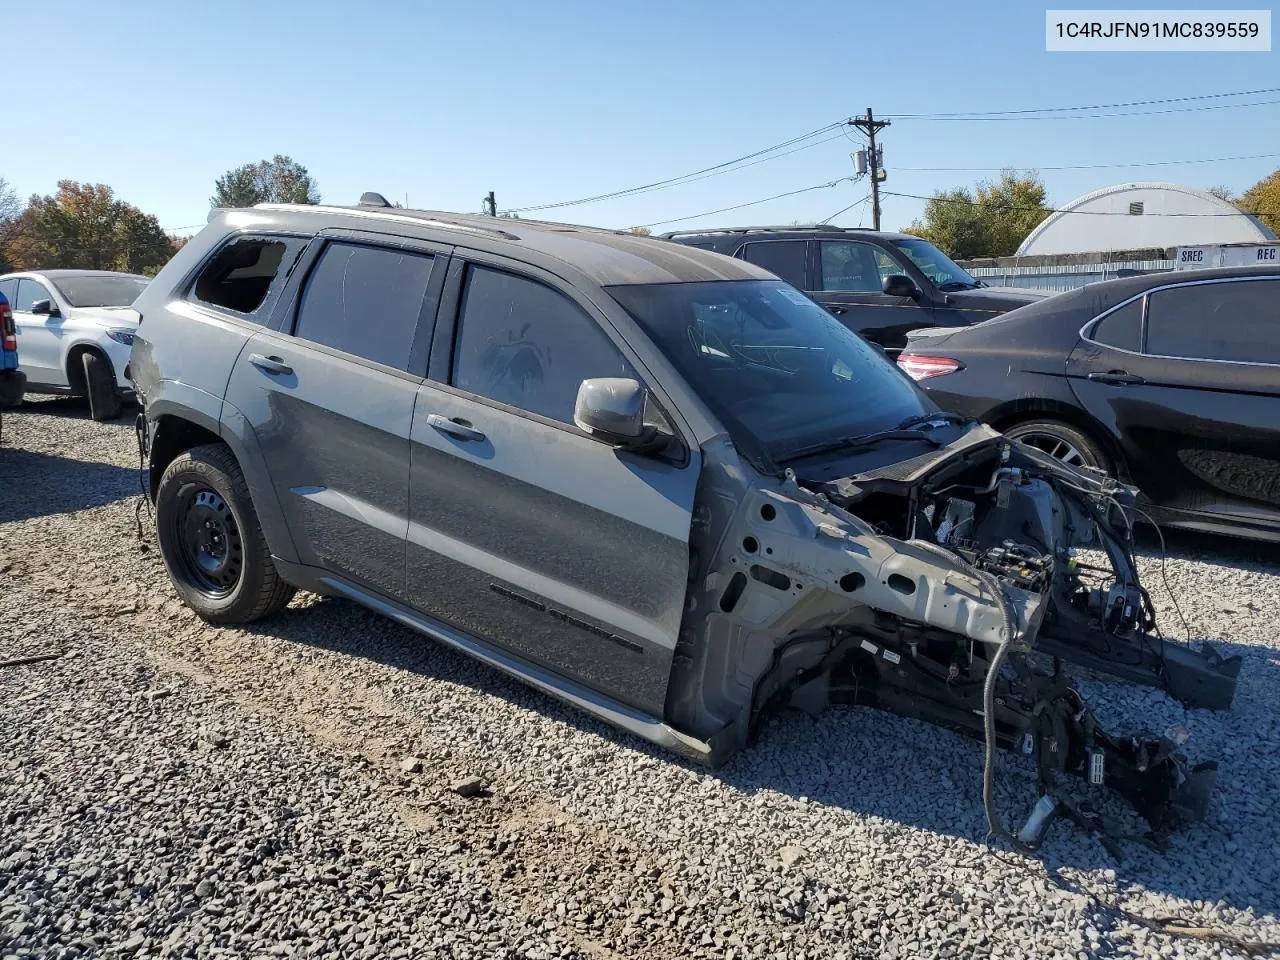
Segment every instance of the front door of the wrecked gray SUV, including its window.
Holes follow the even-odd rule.
[[[550,275],[456,260],[439,326],[413,415],[412,603],[660,716],[696,451],[622,453],[573,426],[584,379],[645,378],[604,315]]]

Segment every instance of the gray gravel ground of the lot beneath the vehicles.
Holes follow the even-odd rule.
[[[977,744],[870,709],[686,765],[352,604],[250,630],[175,599],[124,421],[6,412],[0,957],[1219,957],[1280,943],[1280,552],[1171,538],[1235,708],[1082,684],[1114,730],[1192,731],[1210,820],[1114,863],[1056,824],[988,846]],[[142,515],[146,529],[146,515]],[[150,532],[145,543],[150,543]],[[1158,552],[1144,577],[1162,622]],[[479,795],[456,791],[481,778]],[[1010,822],[1034,803],[1001,759]],[[465,790],[462,792],[470,792]],[[1179,918],[1199,936],[1171,934]],[[1280,947],[1277,947],[1280,950]]]

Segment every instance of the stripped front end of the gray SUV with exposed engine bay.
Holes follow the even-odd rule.
[[[704,471],[673,726],[728,755],[786,707],[865,704],[937,723],[984,744],[988,828],[1028,851],[1065,817],[1119,856],[1121,831],[1091,790],[1124,797],[1149,827],[1135,838],[1155,849],[1203,818],[1217,765],[1190,763],[1187,731],[1112,733],[1066,672],[1231,704],[1239,658],[1158,632],[1138,581],[1134,488],[987,428],[851,476],[787,470],[776,490],[735,490],[735,472]],[[992,801],[997,750],[1037,771],[1038,801],[1016,831]]]

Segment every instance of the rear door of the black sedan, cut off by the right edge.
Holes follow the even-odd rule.
[[[1085,333],[1071,387],[1147,497],[1280,526],[1280,278],[1160,288]]]

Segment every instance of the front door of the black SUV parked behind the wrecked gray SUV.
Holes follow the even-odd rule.
[[[818,241],[818,289],[813,297],[854,333],[899,351],[906,346],[908,330],[928,326],[932,319],[914,297],[884,293],[884,278],[893,274],[909,275],[873,243]]]

